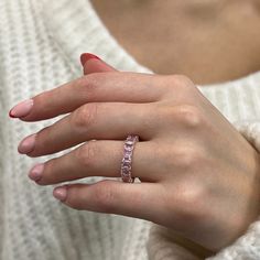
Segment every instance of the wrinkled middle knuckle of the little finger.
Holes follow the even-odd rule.
[[[100,212],[104,213],[113,213],[115,212],[115,187],[111,188],[111,185],[108,181],[104,180],[96,184],[95,189],[95,201],[98,205]]]

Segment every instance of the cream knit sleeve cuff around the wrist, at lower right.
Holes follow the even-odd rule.
[[[260,153],[260,120],[236,121],[235,128]],[[260,188],[260,187],[259,187]],[[260,203],[260,202],[259,202]],[[147,250],[149,260],[197,260],[202,259],[192,250],[180,246],[171,238],[171,230],[152,224]],[[247,231],[237,238],[231,245],[223,248],[206,260],[259,260],[260,259],[260,214],[256,221],[251,223]]]

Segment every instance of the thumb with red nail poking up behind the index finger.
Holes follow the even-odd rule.
[[[90,73],[104,73],[104,72],[117,71],[112,66],[105,63],[101,58],[90,53],[83,53],[80,55],[80,62],[83,65],[84,75]]]

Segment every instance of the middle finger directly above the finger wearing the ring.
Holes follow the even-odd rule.
[[[156,106],[129,102],[90,102],[76,109],[19,144],[18,151],[29,156],[59,152],[91,139],[122,140],[138,134],[151,140],[158,131]]]

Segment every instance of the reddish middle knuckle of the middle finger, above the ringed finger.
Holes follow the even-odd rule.
[[[98,105],[90,102],[82,106],[72,115],[72,124],[82,131],[91,126],[97,118]]]

